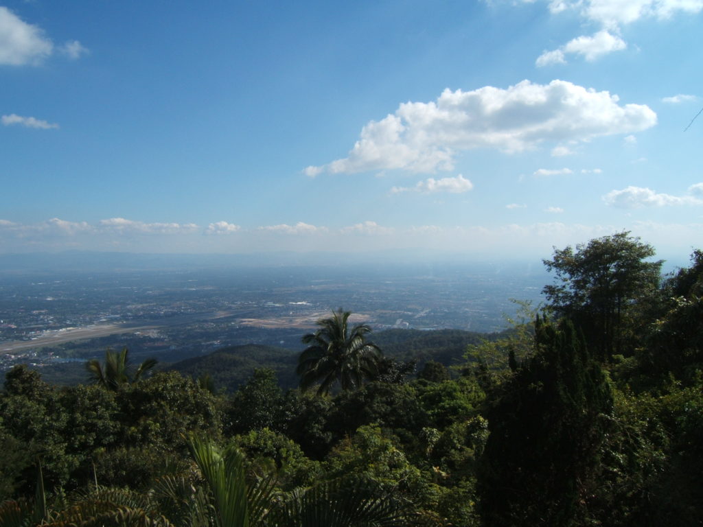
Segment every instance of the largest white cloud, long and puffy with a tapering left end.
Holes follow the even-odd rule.
[[[526,80],[508,89],[446,89],[436,101],[402,103],[394,114],[369,122],[348,157],[305,172],[450,170],[461,150],[520,152],[543,141],[576,143],[631,134],[657,123],[657,115],[646,105],[618,103],[607,91],[560,80],[546,85]]]

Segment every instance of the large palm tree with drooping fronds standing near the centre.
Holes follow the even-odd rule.
[[[368,325],[349,327],[351,314],[339,308],[330,318],[317,321],[320,329],[304,335],[303,344],[309,346],[300,354],[295,370],[301,389],[319,382],[317,393],[322,395],[339,382],[342,390],[353,390],[364,379],[375,377],[381,350],[366,341],[366,334],[371,332]]]

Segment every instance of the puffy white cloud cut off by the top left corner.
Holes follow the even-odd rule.
[[[39,64],[51,55],[53,44],[39,27],[23,22],[0,6],[0,65]]]

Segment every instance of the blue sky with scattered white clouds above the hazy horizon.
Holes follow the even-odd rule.
[[[6,1],[0,252],[685,259],[702,58],[703,0]]]

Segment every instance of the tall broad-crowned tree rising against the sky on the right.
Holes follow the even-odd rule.
[[[651,256],[651,245],[624,231],[555,249],[543,261],[556,274],[556,283],[543,289],[551,307],[581,327],[601,359],[630,351],[624,349],[628,315],[659,285],[662,261],[645,261]]]

